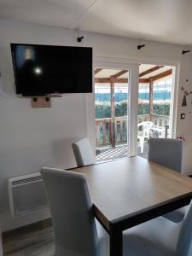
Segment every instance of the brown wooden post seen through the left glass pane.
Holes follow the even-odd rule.
[[[114,105],[114,80],[110,78],[110,90],[111,90],[111,143],[115,148],[115,105]]]

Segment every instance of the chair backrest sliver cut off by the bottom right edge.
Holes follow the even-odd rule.
[[[181,225],[177,239],[177,255],[190,256],[192,255],[192,201]]]

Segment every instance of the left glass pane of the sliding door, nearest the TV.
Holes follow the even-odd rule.
[[[127,155],[129,71],[96,68],[96,160]]]

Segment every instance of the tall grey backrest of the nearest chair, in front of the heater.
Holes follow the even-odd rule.
[[[41,174],[55,230],[56,256],[96,256],[96,223],[84,175],[47,167]]]

